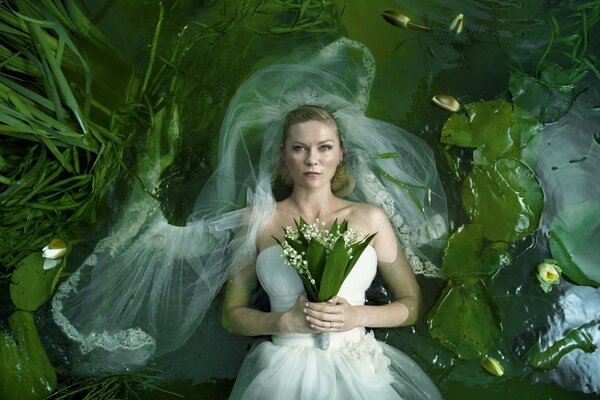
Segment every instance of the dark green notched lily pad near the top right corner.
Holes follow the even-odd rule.
[[[563,69],[550,62],[536,79],[522,71],[511,74],[509,90],[514,102],[544,123],[561,119],[573,105],[575,84],[583,77],[585,64]]]

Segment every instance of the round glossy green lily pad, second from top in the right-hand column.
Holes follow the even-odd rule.
[[[462,187],[465,211],[471,222],[483,225],[491,241],[512,242],[538,227],[544,196],[537,178],[522,162],[499,159],[476,166]]]

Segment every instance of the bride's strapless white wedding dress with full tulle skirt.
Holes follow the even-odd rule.
[[[377,270],[372,246],[344,281],[339,296],[352,305],[365,303],[365,291]],[[271,310],[289,310],[304,291],[278,245],[256,260],[258,279]],[[364,328],[331,333],[329,348],[317,346],[316,334],[281,333],[256,345],[246,356],[230,399],[441,399],[421,368],[401,351],[375,339]]]

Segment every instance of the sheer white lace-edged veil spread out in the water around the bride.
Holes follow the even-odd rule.
[[[53,315],[77,344],[82,373],[122,371],[181,346],[228,274],[256,256],[271,215],[283,118],[303,104],[331,111],[356,181],[349,200],[381,207],[418,274],[446,234],[446,198],[431,149],[365,116],[375,64],[342,38],[294,63],[269,65],[232,98],[219,163],[186,226],[169,225],[150,196],[133,196],[112,234],[61,284]]]

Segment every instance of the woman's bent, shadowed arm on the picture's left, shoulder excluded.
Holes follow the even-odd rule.
[[[263,312],[249,307],[250,297],[258,286],[254,263],[231,275],[225,288],[221,323],[238,335],[261,336],[282,332],[312,332],[303,309],[306,298],[300,296],[286,312]]]

